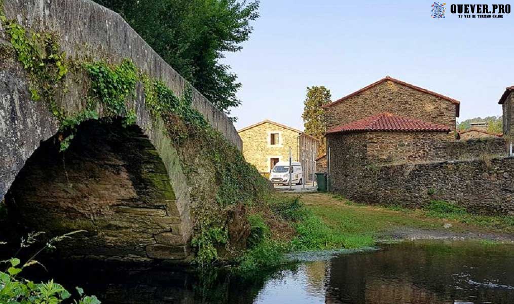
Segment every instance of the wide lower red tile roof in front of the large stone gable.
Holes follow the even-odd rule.
[[[380,113],[368,118],[340,125],[327,131],[328,133],[355,131],[390,131],[390,132],[449,132],[445,125],[406,118],[391,113]]]

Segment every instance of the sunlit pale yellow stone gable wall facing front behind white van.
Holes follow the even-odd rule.
[[[270,144],[270,134],[279,134],[279,143]],[[293,161],[299,161],[300,134],[288,128],[269,122],[262,123],[239,133],[243,141],[243,155],[247,162],[254,165],[260,173],[270,172],[270,158],[289,161],[289,147]]]

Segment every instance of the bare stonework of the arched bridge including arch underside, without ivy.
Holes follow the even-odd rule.
[[[92,1],[7,1],[4,12],[27,28],[56,33],[70,58],[108,58],[113,63],[128,58],[177,96],[185,92],[186,81],[121,16]],[[30,229],[87,230],[76,242],[84,255],[186,258],[193,225],[191,186],[163,122],[151,119],[145,108],[141,85],[130,101],[137,127],[124,130],[114,121],[107,124],[112,126],[109,132],[98,134],[102,127],[84,123],[79,140],[74,140],[79,144],[52,162],[49,156],[58,155],[54,143],[59,122],[44,102],[31,100],[23,66],[14,54],[2,53],[9,45],[0,26],[0,202],[23,210],[21,218]],[[68,89],[58,103],[68,113],[78,113],[84,109],[84,84],[66,82]],[[195,89],[192,104],[242,148],[231,121]],[[36,220],[38,215],[47,220]]]

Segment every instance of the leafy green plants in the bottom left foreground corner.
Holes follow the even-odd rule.
[[[0,303],[5,304],[25,304],[25,303],[41,303],[41,304],[58,304],[63,301],[70,302],[73,298],[61,284],[50,280],[46,283],[34,283],[31,280],[21,278],[22,272],[28,267],[44,266],[35,258],[44,250],[52,250],[55,244],[69,239],[72,235],[81,231],[71,232],[62,236],[51,238],[40,250],[36,251],[25,262],[16,256],[22,250],[29,249],[37,241],[37,237],[43,233],[30,233],[26,239],[22,238],[20,250],[13,258],[0,263],[7,264],[5,271],[0,271]],[[82,288],[76,288],[76,296],[73,300],[75,304],[100,304],[96,296],[84,295]]]

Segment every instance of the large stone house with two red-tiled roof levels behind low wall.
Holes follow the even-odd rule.
[[[331,163],[354,143],[367,161],[397,163],[444,158],[440,143],[455,139],[460,102],[387,76],[323,108]]]

